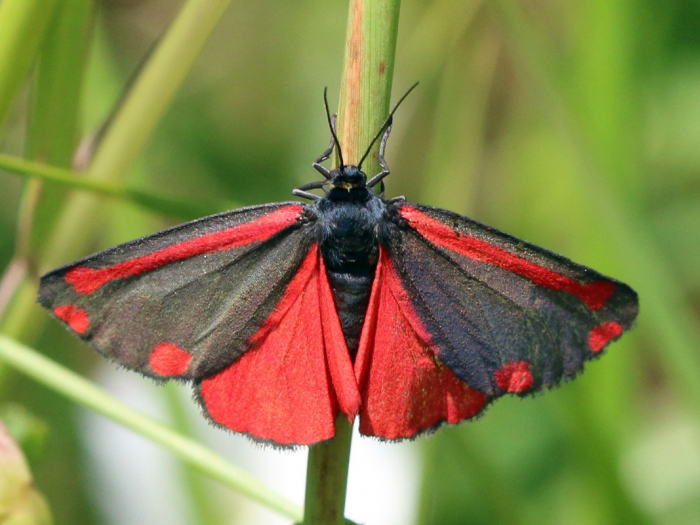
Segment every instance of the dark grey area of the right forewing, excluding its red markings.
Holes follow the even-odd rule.
[[[638,303],[627,285],[465,217],[410,206],[461,235],[476,235],[553,271],[615,284],[605,307],[591,310],[572,294],[436,246],[406,224],[387,223],[385,242],[402,285],[440,359],[470,387],[490,396],[502,394],[496,372],[521,361],[533,376],[527,393],[552,386],[600,354],[591,349],[592,330],[607,322],[624,330],[632,326]]]

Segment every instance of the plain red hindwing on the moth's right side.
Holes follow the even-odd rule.
[[[458,379],[436,354],[388,254],[380,248],[355,361],[362,393],[360,432],[410,437],[440,421],[458,423],[479,413],[486,396]]]

